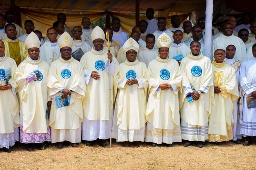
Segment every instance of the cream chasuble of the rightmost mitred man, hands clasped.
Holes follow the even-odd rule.
[[[180,126],[178,91],[182,74],[176,60],[162,60],[159,55],[148,66],[149,98],[146,119],[156,129],[174,129]],[[169,83],[170,90],[161,90],[159,85]]]

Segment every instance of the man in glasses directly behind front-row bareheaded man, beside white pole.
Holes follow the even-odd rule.
[[[190,47],[190,43],[192,41],[198,41],[201,44],[201,49],[200,51],[204,54],[204,40],[202,37],[202,29],[199,26],[194,26],[192,28],[192,36],[190,38],[188,38],[187,41],[185,41],[184,43]]]

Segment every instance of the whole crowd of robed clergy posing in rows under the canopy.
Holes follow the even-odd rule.
[[[212,58],[204,56],[205,18],[197,26],[146,10],[130,36],[113,18],[70,29],[59,13],[46,38],[34,23],[22,28],[0,14],[0,148],[28,151],[45,142],[71,147],[116,139],[125,147],[185,141],[252,143],[256,135],[256,20],[230,17],[212,29]],[[109,36],[106,36],[108,32]],[[108,44],[109,40],[109,44]],[[112,127],[110,127],[112,120]],[[112,130],[110,130],[112,129]]]

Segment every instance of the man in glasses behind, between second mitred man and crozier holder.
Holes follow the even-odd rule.
[[[75,26],[72,30],[73,34],[73,46],[72,46],[72,56],[80,61],[82,55],[87,51],[91,51],[91,46],[81,38],[82,28],[80,26]]]

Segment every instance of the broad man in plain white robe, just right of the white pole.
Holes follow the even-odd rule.
[[[233,35],[233,25],[225,23],[223,26],[223,33],[212,42],[212,55],[217,49],[226,49],[230,44],[233,44],[236,47],[235,59],[245,61],[247,55],[244,42]]]

